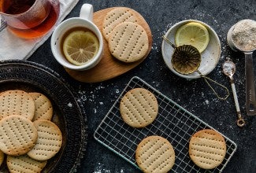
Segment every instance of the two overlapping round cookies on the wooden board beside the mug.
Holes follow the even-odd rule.
[[[106,14],[102,23],[111,54],[125,63],[143,59],[149,48],[147,32],[135,16],[134,10],[117,7]]]

